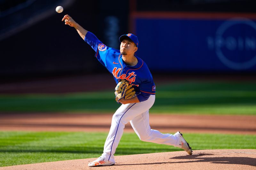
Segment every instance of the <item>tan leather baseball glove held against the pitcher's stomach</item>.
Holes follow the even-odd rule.
[[[132,98],[135,95],[135,90],[127,80],[121,80],[116,85],[115,94],[116,94],[116,102],[119,103],[118,101],[122,98],[124,99]]]

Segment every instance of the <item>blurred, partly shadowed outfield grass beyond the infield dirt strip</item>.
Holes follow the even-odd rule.
[[[0,112],[115,112],[114,93],[0,95]],[[179,82],[157,86],[151,113],[256,115],[256,83]]]

